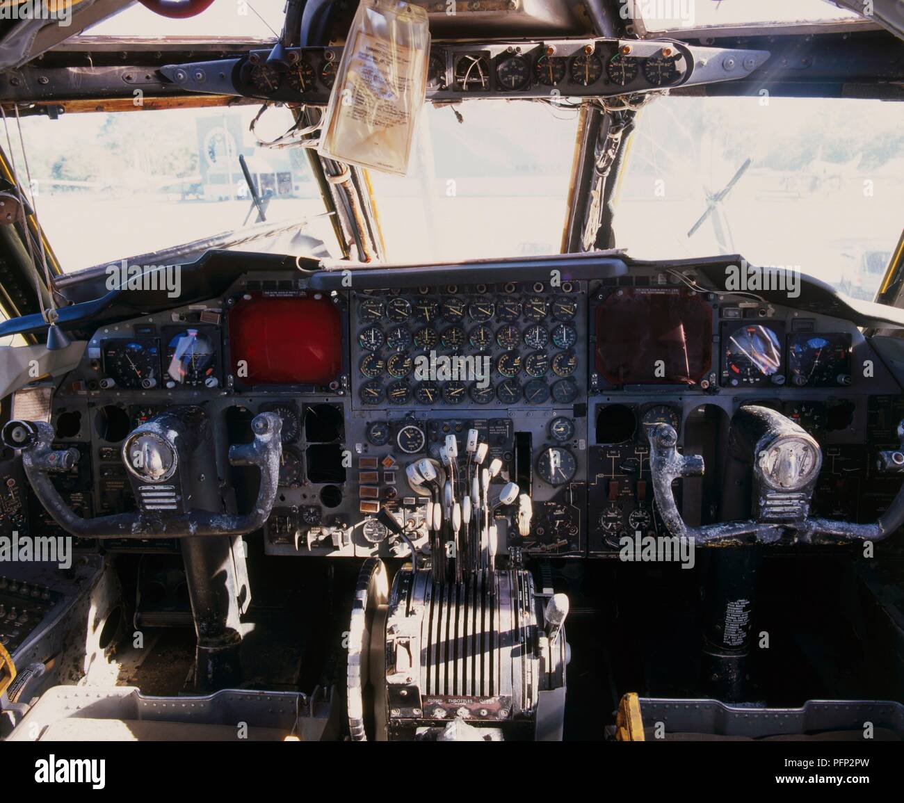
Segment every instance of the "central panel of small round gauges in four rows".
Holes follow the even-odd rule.
[[[365,407],[567,405],[586,383],[580,283],[353,294],[355,399]]]

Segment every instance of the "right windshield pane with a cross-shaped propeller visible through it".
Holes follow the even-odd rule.
[[[873,298],[904,226],[902,131],[904,105],[880,100],[654,99],[617,186],[617,246],[739,253]]]

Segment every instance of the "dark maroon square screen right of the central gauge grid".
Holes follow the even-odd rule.
[[[597,307],[596,334],[610,384],[698,383],[712,363],[712,307],[688,290],[618,290]]]

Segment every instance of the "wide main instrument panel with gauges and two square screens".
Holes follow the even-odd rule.
[[[756,403],[823,447],[820,515],[868,521],[897,491],[872,456],[894,445],[904,403],[857,326],[709,291],[693,271],[510,276],[381,288],[365,273],[353,288],[315,289],[297,273],[255,271],[221,298],[102,326],[53,395],[59,444],[82,455],[54,481],[81,515],[132,509],[128,433],[167,406],[197,405],[214,423],[222,493],[241,512],[254,472],[226,454],[272,411],[283,449],[267,553],[405,554],[377,518],[384,507],[427,549],[435,495],[467,496],[492,466],[482,496],[500,551],[605,557],[627,534],[664,534],[650,428],[671,424],[679,449],[703,455],[706,475],[679,481],[676,496],[688,522],[705,524],[730,419]],[[412,479],[423,470],[436,487]],[[510,484],[531,497],[527,527]],[[40,509],[29,519],[52,526]]]

